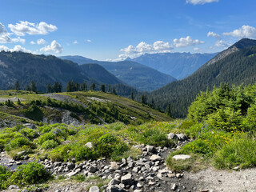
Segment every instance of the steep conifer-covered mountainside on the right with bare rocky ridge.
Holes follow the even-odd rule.
[[[240,40],[215,56],[190,77],[155,90],[150,97],[154,98],[162,108],[170,103],[171,112],[175,117],[186,117],[190,103],[200,91],[206,90],[207,87],[211,90],[214,85],[219,86],[223,83],[247,85],[255,82],[256,46],[251,46],[254,43],[255,40]],[[236,49],[235,52],[234,49]],[[223,58],[222,55],[230,52],[233,53]]]

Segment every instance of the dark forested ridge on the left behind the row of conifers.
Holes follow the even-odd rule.
[[[38,91],[46,91],[47,84],[62,83],[62,90],[66,90],[67,82],[91,83],[99,89],[101,84],[118,85],[118,94],[129,96],[130,92],[137,92],[126,86],[121,80],[114,77],[98,64],[78,66],[77,63],[62,60],[54,56],[27,54],[22,52],[0,52],[0,89],[13,89],[16,81],[22,90],[34,81]],[[123,91],[126,94],[123,94]],[[127,93],[129,92],[129,93]]]

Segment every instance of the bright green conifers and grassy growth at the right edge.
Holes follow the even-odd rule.
[[[199,94],[188,114],[194,125],[184,130],[195,140],[171,154],[168,165],[177,168],[172,159],[174,154],[192,154],[222,169],[256,166],[255,96],[256,84],[232,87],[224,84]]]

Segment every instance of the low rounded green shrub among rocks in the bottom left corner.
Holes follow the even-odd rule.
[[[10,176],[9,183],[18,186],[26,186],[46,182],[51,177],[50,172],[48,172],[42,164],[30,162],[26,165],[18,166],[17,171]]]

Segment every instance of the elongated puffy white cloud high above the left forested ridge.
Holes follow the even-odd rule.
[[[15,25],[9,24],[8,27],[14,34],[18,36],[24,36],[25,34],[48,34],[57,30],[57,26],[47,24],[46,22],[39,22],[35,24],[33,22],[22,22],[16,23]]]

